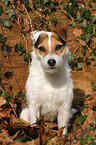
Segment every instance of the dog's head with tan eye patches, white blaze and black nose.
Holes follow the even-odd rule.
[[[63,34],[62,37],[55,32],[31,32],[33,49],[45,72],[55,73],[64,65],[64,56],[68,54],[68,47],[66,32]]]

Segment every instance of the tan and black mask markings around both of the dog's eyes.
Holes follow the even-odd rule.
[[[66,42],[55,32],[52,32],[51,36],[51,48],[49,48],[49,36],[48,34],[42,34],[39,36],[35,43],[35,52],[37,55],[45,57],[48,53],[61,55],[65,53]]]

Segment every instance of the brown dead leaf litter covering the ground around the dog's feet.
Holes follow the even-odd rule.
[[[17,6],[19,11],[24,11],[20,4]],[[9,27],[10,23],[6,25]],[[29,21],[26,18],[24,22],[21,20],[21,25],[24,26],[22,28],[24,32],[29,31]],[[79,33],[82,34],[81,29]],[[73,30],[73,34],[78,36],[76,29]],[[80,43],[85,45],[83,40],[80,40]],[[13,75],[7,71],[5,77],[11,79]],[[64,127],[58,130],[57,123],[46,122],[43,116],[37,118],[34,127],[19,119],[21,104],[25,97],[24,94],[19,95],[10,94],[10,97],[9,94],[0,93],[0,145],[94,145],[96,143],[96,93],[93,91],[92,94],[85,96],[83,105],[82,95],[77,94],[79,103],[77,100],[74,103],[77,113],[70,119],[68,134],[65,136],[62,135]]]

